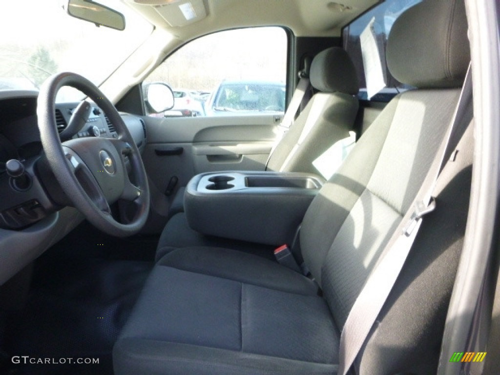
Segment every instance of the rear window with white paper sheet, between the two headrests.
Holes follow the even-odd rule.
[[[420,1],[421,0],[384,1],[342,29],[343,48],[352,58],[359,77],[359,99],[389,101],[398,92],[413,88],[409,85],[398,82],[390,74],[385,63],[385,45],[387,43],[387,36],[389,35],[390,28],[392,27],[395,19],[404,10]],[[367,34],[365,32],[367,28],[371,31],[372,40],[375,44],[371,50],[369,48],[369,43],[366,42],[366,38],[363,40],[363,37],[361,36],[362,34]],[[363,48],[361,45],[363,45]],[[367,58],[367,54],[370,53],[371,56]],[[379,64],[376,64],[377,66],[375,68],[379,68],[381,70],[381,76],[378,82],[380,84],[370,92],[370,89],[367,88],[367,81],[369,82],[369,79],[366,73],[367,70],[370,69],[370,73],[372,73],[374,68],[373,66],[365,66],[365,64],[367,60],[371,60],[373,62],[374,53],[378,54],[378,56],[374,57],[377,61],[379,61]]]

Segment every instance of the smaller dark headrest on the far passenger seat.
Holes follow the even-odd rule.
[[[355,95],[359,91],[356,69],[342,48],[331,47],[314,56],[309,76],[312,87],[322,92]]]

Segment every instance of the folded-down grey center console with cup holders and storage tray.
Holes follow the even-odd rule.
[[[207,235],[291,244],[323,179],[306,173],[202,173],[186,186],[189,226]]]

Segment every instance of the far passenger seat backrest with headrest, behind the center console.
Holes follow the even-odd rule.
[[[349,137],[358,109],[354,64],[338,47],[318,53],[310,67],[317,92],[284,134],[267,163],[268,170],[320,172],[313,161],[335,142]]]

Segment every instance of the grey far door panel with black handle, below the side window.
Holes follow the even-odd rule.
[[[264,170],[280,120],[272,114],[143,119],[147,144],[142,158],[151,182],[164,194],[177,179],[169,200],[198,173]]]

